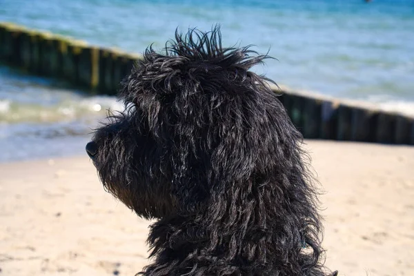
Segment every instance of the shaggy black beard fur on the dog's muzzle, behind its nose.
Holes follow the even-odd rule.
[[[99,152],[93,162],[103,188],[140,217],[166,217],[176,204],[163,152],[148,133],[138,135],[130,124],[128,117],[119,117],[95,132]]]

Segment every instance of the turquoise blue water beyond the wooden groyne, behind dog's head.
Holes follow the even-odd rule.
[[[175,28],[222,27],[224,44],[255,44],[279,61],[277,83],[335,97],[414,101],[414,1],[1,0],[1,21],[142,52]]]

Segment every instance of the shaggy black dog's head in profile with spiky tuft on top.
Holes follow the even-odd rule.
[[[126,110],[87,146],[105,188],[159,218],[198,212],[237,185],[283,182],[267,176],[292,166],[301,136],[270,80],[249,71],[266,57],[222,48],[218,28],[148,48],[122,82]]]

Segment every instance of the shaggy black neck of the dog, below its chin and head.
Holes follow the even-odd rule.
[[[301,266],[289,264],[288,259],[297,259],[292,256],[299,254],[303,244],[291,245],[291,252],[278,252],[268,246],[275,238],[270,229],[248,227],[240,240],[237,233],[213,233],[197,221],[173,217],[152,224],[148,242],[155,262],[143,275],[326,275],[317,264],[300,274],[286,273],[288,266]]]

